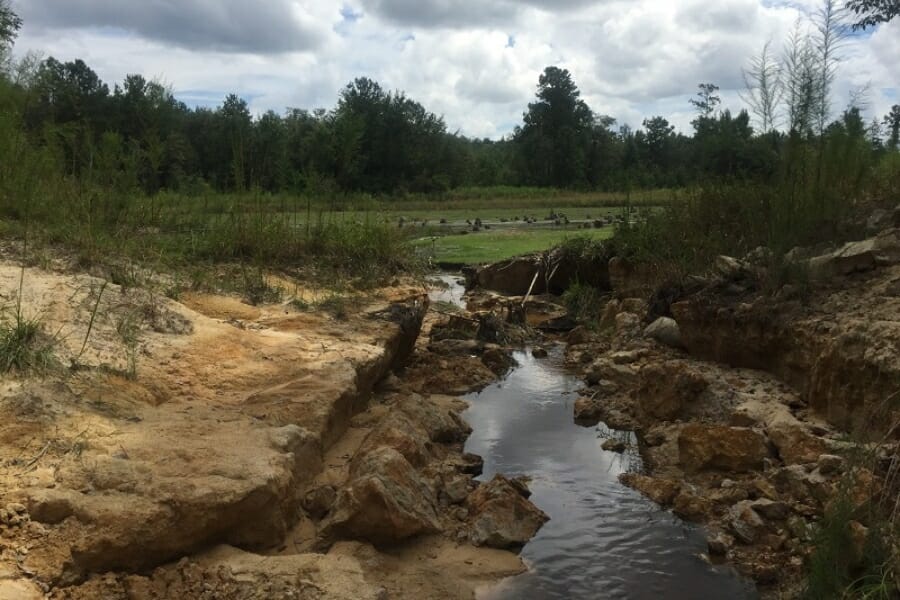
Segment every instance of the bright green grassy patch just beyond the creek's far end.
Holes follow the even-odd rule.
[[[603,229],[513,229],[467,235],[419,238],[414,246],[438,263],[479,264],[519,254],[547,250],[566,238],[589,236],[607,239],[613,228]]]

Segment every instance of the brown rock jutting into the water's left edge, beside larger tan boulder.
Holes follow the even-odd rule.
[[[476,546],[521,547],[549,520],[502,475],[469,494],[466,508],[469,538]]]

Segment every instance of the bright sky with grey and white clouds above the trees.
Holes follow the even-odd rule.
[[[818,0],[13,0],[16,51],[84,59],[107,82],[141,73],[189,105],[230,92],[255,112],[330,108],[365,75],[405,90],[451,130],[498,138],[547,65],[588,104],[688,130],[699,82],[742,106],[741,67],[780,48]],[[900,102],[900,21],[849,40],[836,108],[868,87],[868,116]]]

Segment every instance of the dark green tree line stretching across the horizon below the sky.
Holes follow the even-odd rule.
[[[82,60],[13,62],[9,48],[22,23],[5,0],[0,102],[69,176],[148,194],[402,195],[493,185],[619,191],[770,180],[791,139],[850,136],[873,153],[898,149],[900,106],[873,122],[863,122],[858,104],[830,118],[844,10],[826,0],[811,32],[798,27],[781,56],[763,48],[745,71],[749,111],[723,110],[718,87],[701,84],[690,100],[690,135],[661,116],[637,129],[617,127],[587,105],[571,73],[555,66],[541,74],[522,124],[498,141],[451,132],[441,116],[365,77],[341,90],[331,110],[254,116],[234,94],[216,108],[189,107],[141,75],[110,87]],[[895,16],[897,3],[857,0],[848,10],[865,27]]]

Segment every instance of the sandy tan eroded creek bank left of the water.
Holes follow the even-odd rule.
[[[0,269],[8,294],[18,277]],[[420,330],[447,319],[415,287],[338,320],[78,274],[25,281],[23,306],[67,329],[55,351],[79,368],[4,378],[3,593],[472,598],[524,569],[494,548],[545,517],[521,483],[474,480],[465,405],[430,389],[487,385],[509,353],[429,351]],[[117,334],[135,314],[132,377]]]

